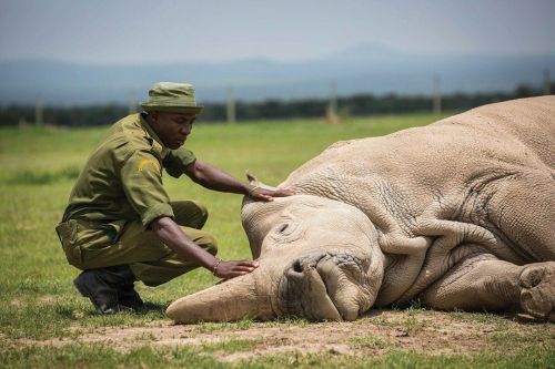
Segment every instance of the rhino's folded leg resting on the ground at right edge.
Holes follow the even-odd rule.
[[[518,266],[477,255],[454,266],[421,299],[442,310],[519,310],[555,321],[555,262]]]

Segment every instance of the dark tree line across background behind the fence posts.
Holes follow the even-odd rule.
[[[551,83],[555,91],[555,83]],[[511,92],[451,93],[442,95],[442,109],[445,111],[464,111],[475,106],[519,98],[544,94],[541,89],[527,84],[518,85]],[[199,116],[203,122],[222,122],[226,120],[225,103],[205,103]],[[326,99],[304,99],[295,101],[266,100],[263,102],[242,102],[235,104],[238,121],[266,119],[303,119],[325,116],[329,106]],[[374,95],[355,94],[337,99],[340,116],[361,116],[389,113],[415,113],[432,110],[430,95]],[[42,121],[48,124],[64,126],[92,126],[112,124],[129,114],[129,106],[88,105],[88,106],[46,106],[42,109]],[[36,122],[36,106],[9,105],[0,107],[0,126],[32,124]]]

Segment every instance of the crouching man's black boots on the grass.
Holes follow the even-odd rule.
[[[133,288],[137,280],[128,265],[90,269],[74,280],[77,289],[89,297],[97,311],[113,314],[120,310],[138,310],[144,306]]]

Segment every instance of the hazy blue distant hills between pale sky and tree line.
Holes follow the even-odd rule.
[[[301,62],[263,59],[233,62],[93,65],[52,60],[0,62],[0,104],[74,105],[142,101],[157,81],[194,83],[200,102],[221,102],[233,86],[236,99],[261,101],[322,98],[333,82],[337,94],[430,94],[434,75],[450,93],[508,91],[555,78],[555,54],[422,55],[360,45]]]

